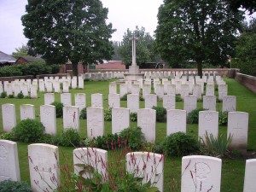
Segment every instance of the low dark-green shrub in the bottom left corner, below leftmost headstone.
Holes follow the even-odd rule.
[[[26,182],[5,180],[0,182],[0,192],[32,192],[32,189]]]

